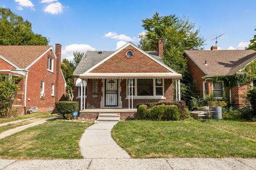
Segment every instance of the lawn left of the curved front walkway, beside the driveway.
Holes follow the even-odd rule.
[[[79,140],[89,123],[55,120],[0,140],[0,158],[82,158]]]

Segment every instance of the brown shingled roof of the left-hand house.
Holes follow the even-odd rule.
[[[26,69],[50,48],[52,46],[0,46],[0,57],[17,69]]]

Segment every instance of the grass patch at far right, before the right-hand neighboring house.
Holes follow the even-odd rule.
[[[256,141],[256,122],[244,122],[244,120],[211,121],[212,127],[228,131],[230,133]]]

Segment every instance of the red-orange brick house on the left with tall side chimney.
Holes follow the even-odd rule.
[[[65,99],[66,82],[61,71],[61,45],[0,46],[0,74],[19,76],[13,107],[21,114],[51,112]]]

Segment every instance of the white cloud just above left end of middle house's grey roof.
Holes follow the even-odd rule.
[[[86,53],[87,50],[94,51],[95,48],[87,44],[70,44],[70,45],[67,45],[64,49],[62,49],[62,55],[63,55],[63,58],[67,58],[69,61],[72,61],[74,58],[73,56],[74,52]]]

